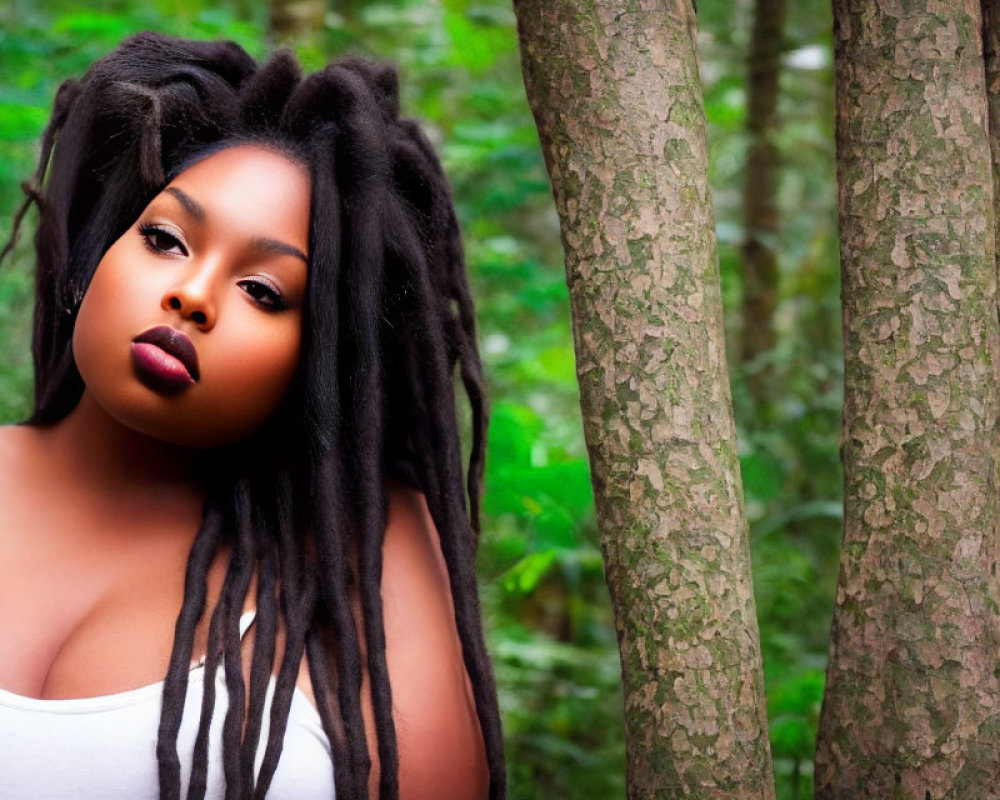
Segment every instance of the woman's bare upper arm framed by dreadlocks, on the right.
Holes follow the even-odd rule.
[[[438,532],[422,494],[395,485],[389,498],[382,603],[401,797],[482,798],[482,731]]]

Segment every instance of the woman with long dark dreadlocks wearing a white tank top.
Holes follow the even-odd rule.
[[[142,34],[60,87],[26,191],[5,796],[503,796],[472,304],[394,72]]]

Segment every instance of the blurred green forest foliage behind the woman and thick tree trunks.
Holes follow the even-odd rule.
[[[317,13],[296,22],[282,16],[286,5],[3,0],[0,238],[21,201],[20,181],[34,168],[59,82],[130,33],[230,38],[258,57],[287,43],[307,69],[345,52],[398,63],[404,108],[425,124],[451,177],[478,301],[492,393],[480,574],[510,796],[622,797],[618,653],[580,429],[558,221],[524,99],[513,12],[505,0],[330,0],[325,9],[313,3]],[[308,0],[299,5],[310,8]],[[748,127],[748,107],[759,102],[747,69],[754,4],[698,5],[778,796],[805,798],[842,524],[832,22],[828,2],[800,0],[777,26],[772,18],[764,27],[780,80],[773,127],[761,139],[759,126]],[[745,189],[751,145],[762,141],[777,180]],[[0,270],[2,421],[23,418],[31,390],[33,227],[29,215]],[[773,257],[763,288],[759,269],[744,279],[747,259],[761,248]],[[762,291],[776,301],[763,322]]]

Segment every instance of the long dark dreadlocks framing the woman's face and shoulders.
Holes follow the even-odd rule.
[[[147,33],[125,41],[82,79],[63,83],[15,218],[16,233],[27,208],[39,206],[35,405],[28,422],[56,422],[79,401],[83,382],[71,337],[103,253],[170,178],[248,142],[288,154],[312,177],[301,364],[282,409],[255,434],[254,446],[264,440],[268,457],[247,458],[247,443],[212,456],[218,477],[189,557],[163,689],[161,797],[181,793],[176,742],[188,665],[206,611],[208,569],[223,547],[232,555],[211,611],[207,669],[211,675],[221,666],[230,696],[223,724],[227,799],[267,792],[303,655],[338,796],[367,796],[360,697],[366,671],[379,794],[398,796],[379,594],[390,477],[423,492],[439,532],[486,742],[490,797],[502,797],[500,722],[474,572],[486,402],[473,307],[446,179],[416,123],[399,118],[392,68],[348,58],[303,78],[287,52],[258,67],[230,42]],[[456,367],[472,409],[468,505]],[[238,618],[254,577],[258,633],[245,685]],[[361,630],[351,610],[355,586]],[[255,781],[279,628],[286,644]],[[208,680],[191,798],[205,793],[214,703]]]

